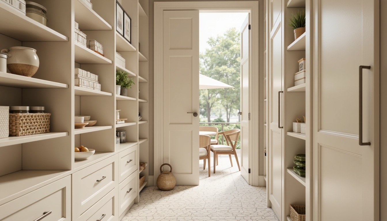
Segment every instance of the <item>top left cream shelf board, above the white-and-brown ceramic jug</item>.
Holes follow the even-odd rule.
[[[0,1],[0,21],[0,33],[19,41],[68,41],[63,34],[34,21],[3,1]]]

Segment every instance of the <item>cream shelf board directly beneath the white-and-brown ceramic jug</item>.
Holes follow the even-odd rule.
[[[19,88],[68,88],[67,84],[0,72],[0,85]]]

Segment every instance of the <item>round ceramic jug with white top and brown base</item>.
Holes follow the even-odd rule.
[[[3,49],[1,52],[11,55],[7,59],[7,68],[12,74],[32,77],[39,68],[39,58],[33,48],[16,46],[10,47],[9,50]]]

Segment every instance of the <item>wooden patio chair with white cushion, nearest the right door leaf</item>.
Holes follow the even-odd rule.
[[[227,145],[219,145],[219,144],[211,145],[211,151],[214,153],[214,173],[215,173],[215,166],[217,165],[217,155],[219,154],[228,154],[230,158],[231,166],[233,166],[231,154],[234,154],[236,159],[236,164],[238,164],[238,169],[239,171],[241,171],[241,168],[239,166],[238,156],[236,156],[236,151],[235,151],[235,146],[236,146],[236,142],[238,141],[240,129],[226,130],[226,131],[220,132],[219,134],[223,134],[223,136],[226,138]]]

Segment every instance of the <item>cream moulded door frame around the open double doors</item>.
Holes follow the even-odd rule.
[[[263,96],[260,96],[259,81],[263,69],[258,66],[259,61],[259,2],[238,1],[238,2],[154,2],[154,177],[160,174],[159,166],[163,164],[163,11],[164,10],[224,10],[248,12],[251,15],[251,51],[250,51],[250,185],[258,186],[264,181],[259,177],[259,144],[263,143],[258,138],[261,120],[259,119],[259,103]],[[262,52],[263,53],[263,52]],[[261,55],[262,57],[263,55]],[[256,61],[256,62],[254,62]],[[263,65],[263,64],[262,64]],[[261,82],[262,84],[262,82]],[[262,98],[261,98],[262,97]],[[258,102],[252,102],[258,101]],[[263,109],[262,109],[263,111]],[[262,123],[263,125],[263,123]],[[261,153],[263,154],[263,153]],[[199,159],[198,159],[199,160]],[[259,182],[260,181],[260,182]],[[156,179],[154,184],[156,185]]]

